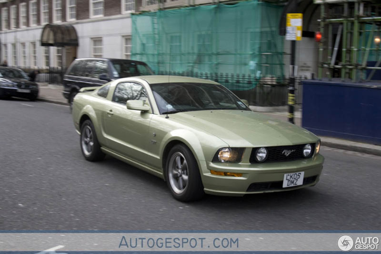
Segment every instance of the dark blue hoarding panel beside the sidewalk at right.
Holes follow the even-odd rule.
[[[303,128],[381,145],[381,83],[303,81]]]

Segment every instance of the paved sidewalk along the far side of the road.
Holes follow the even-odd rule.
[[[39,83],[40,86],[40,94],[38,96],[38,100],[56,103],[61,105],[69,105],[67,100],[62,96],[62,86],[60,85],[49,85],[47,83]],[[279,119],[282,121],[288,121],[288,113],[285,111],[279,112],[263,112],[264,108],[259,109],[259,107],[250,107],[253,111],[260,111],[260,113],[271,116],[275,119]],[[287,107],[282,107],[280,109],[286,109]],[[265,110],[269,111],[269,110]],[[295,124],[301,126],[301,117],[302,111],[301,109],[295,110]],[[320,137],[322,140],[322,146],[328,146],[332,148],[338,148],[343,150],[355,151],[359,153],[367,153],[381,156],[381,146],[371,145],[367,143],[354,142],[349,140],[342,140],[338,138],[330,138],[330,137]]]

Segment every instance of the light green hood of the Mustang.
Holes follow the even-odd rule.
[[[308,130],[253,111],[190,111],[170,118],[209,132],[232,147],[297,145],[318,140]]]

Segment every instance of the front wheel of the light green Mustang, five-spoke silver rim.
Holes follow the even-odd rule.
[[[197,161],[187,146],[179,144],[171,149],[165,173],[167,185],[177,200],[193,201],[204,195]]]

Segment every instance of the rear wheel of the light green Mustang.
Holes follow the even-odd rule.
[[[101,161],[105,154],[101,151],[94,125],[90,120],[83,122],[81,127],[81,150],[88,161]]]

